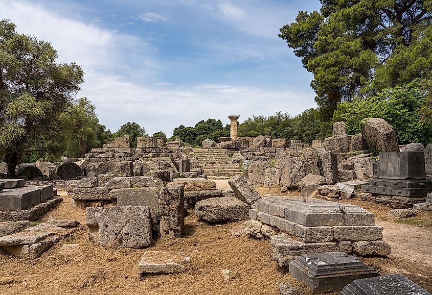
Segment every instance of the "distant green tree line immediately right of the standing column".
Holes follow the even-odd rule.
[[[282,112],[269,117],[253,116],[238,127],[239,136],[271,135],[274,138],[299,139],[305,143],[324,139],[331,131],[331,122],[323,122],[317,109],[308,109],[294,118]]]

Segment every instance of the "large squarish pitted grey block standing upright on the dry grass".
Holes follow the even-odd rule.
[[[102,246],[116,243],[121,248],[143,248],[151,243],[148,207],[87,207],[85,222],[89,231],[99,231]]]

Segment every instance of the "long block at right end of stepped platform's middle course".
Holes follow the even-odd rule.
[[[337,241],[368,241],[382,239],[380,226],[336,226],[334,239]]]

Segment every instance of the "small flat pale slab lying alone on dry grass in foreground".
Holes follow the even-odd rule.
[[[138,273],[174,274],[186,271],[191,259],[182,252],[146,251],[138,264]]]

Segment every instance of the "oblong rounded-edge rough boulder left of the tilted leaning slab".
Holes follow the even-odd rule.
[[[204,222],[227,222],[249,218],[249,206],[236,198],[210,198],[195,205],[195,214]]]

